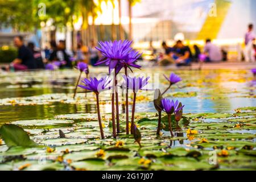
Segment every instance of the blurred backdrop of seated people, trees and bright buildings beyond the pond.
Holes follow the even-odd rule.
[[[139,64],[254,62],[253,0],[0,0],[3,70],[94,65],[98,41],[129,39]]]

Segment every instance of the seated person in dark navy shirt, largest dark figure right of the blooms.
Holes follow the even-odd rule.
[[[176,42],[174,51],[171,53],[177,67],[191,65],[192,53],[188,46],[184,46],[181,40]]]

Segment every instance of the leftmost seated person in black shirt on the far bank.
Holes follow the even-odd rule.
[[[36,63],[32,51],[24,46],[22,36],[15,36],[14,45],[18,48],[18,57],[13,60],[11,66],[15,71],[35,69]]]

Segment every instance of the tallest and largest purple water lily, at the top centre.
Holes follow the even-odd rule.
[[[132,50],[131,41],[115,40],[114,42],[99,42],[100,47],[96,47],[101,51],[103,57],[94,65],[105,63],[109,66],[109,73],[117,66],[120,60],[129,60],[129,53]]]

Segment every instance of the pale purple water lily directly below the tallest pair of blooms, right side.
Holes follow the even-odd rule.
[[[134,93],[137,93],[138,90],[144,90],[143,87],[148,84],[148,80],[150,77],[129,77],[123,75],[123,78],[125,79],[125,83],[123,84],[125,87],[127,85],[127,88],[130,90],[133,90]]]

